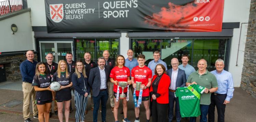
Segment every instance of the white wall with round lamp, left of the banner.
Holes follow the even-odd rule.
[[[12,24],[16,24],[18,28],[15,34],[12,34]],[[0,52],[35,49],[30,12],[1,20],[0,27]]]

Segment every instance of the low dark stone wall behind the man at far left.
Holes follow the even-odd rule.
[[[24,54],[0,57],[0,64],[3,64],[5,67],[6,81],[17,81],[22,79],[20,64],[26,59],[27,57]],[[34,60],[37,60],[36,54]]]

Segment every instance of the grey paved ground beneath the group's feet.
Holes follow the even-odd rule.
[[[23,115],[22,115],[22,106],[23,106],[23,92],[22,92],[22,81],[17,82],[2,82],[0,83],[0,122],[22,122]],[[131,92],[130,92],[131,93]],[[132,104],[132,95],[130,94],[130,101],[128,102],[128,115],[127,117],[133,122],[135,120],[134,108]],[[75,118],[75,107],[74,107],[74,96],[72,96],[72,106],[73,111],[69,116],[69,121],[74,121]],[[20,101],[21,103],[13,106],[8,107],[5,106],[5,103],[9,101]],[[241,88],[235,88],[234,97],[231,99],[230,103],[226,106],[225,112],[225,121],[226,122],[254,122],[255,121],[255,113],[256,113],[256,99],[252,98],[247,92],[242,90]],[[52,104],[53,105],[53,104]],[[120,104],[119,111],[121,110],[122,105]],[[85,115],[85,119],[88,122],[92,121],[93,114],[90,110],[91,103],[90,98],[87,104],[88,114]],[[30,105],[30,111],[32,111],[32,106]],[[119,112],[118,111],[118,112]],[[54,115],[50,118],[50,122],[58,122],[58,117]],[[217,113],[217,111],[215,112]],[[217,118],[217,114],[215,115]],[[34,119],[32,114],[30,116],[34,122],[38,122],[37,119]],[[119,122],[123,118],[123,115],[118,115]],[[107,103],[107,116],[106,120],[108,122],[114,122],[114,115],[110,109],[110,102],[108,100]],[[141,122],[145,122],[145,109],[142,105],[141,107],[141,114],[140,114]],[[151,118],[152,120],[152,118]],[[101,113],[98,113],[98,121],[101,121]],[[187,121],[182,119],[182,121]],[[197,121],[199,122],[199,117],[197,117]],[[174,120],[175,122],[175,120]],[[216,120],[217,122],[217,120]]]

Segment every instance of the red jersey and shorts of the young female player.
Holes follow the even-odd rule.
[[[130,77],[130,70],[128,67],[119,68],[115,66],[110,73],[110,77],[114,79],[114,81],[125,81],[127,82],[127,78]],[[114,84],[113,88],[114,92],[117,92],[117,85]],[[127,87],[124,89],[124,92],[127,92]],[[122,93],[122,88],[119,87],[119,93]]]

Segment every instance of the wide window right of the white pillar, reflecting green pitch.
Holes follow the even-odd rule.
[[[188,54],[190,56],[189,64],[196,70],[199,59],[207,60],[207,69],[215,70],[215,61],[218,58],[226,60],[226,52],[228,50],[229,38],[224,39],[200,39],[200,38],[132,38],[131,49],[135,52],[135,57],[144,54],[147,65],[153,60],[153,52],[161,51],[161,59],[167,64],[167,68],[171,68],[171,59],[178,58],[182,64],[181,56]]]

